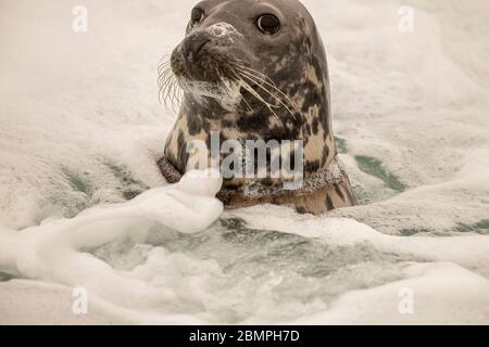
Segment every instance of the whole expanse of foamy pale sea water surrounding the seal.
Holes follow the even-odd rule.
[[[2,3],[0,323],[489,322],[487,1],[304,1],[363,202],[323,217],[161,188],[156,65],[195,3],[112,2],[82,35],[64,1]]]

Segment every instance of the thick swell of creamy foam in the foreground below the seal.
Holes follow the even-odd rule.
[[[220,187],[218,180],[211,180],[210,184],[188,183],[192,193],[198,189],[197,193],[203,196],[189,198],[188,189],[179,183],[150,191],[121,206],[95,208],[72,220],[48,222],[16,234],[3,231],[0,241],[11,245],[10,264],[16,271],[30,279],[64,285],[15,280],[0,286],[4,293],[0,299],[4,322],[36,321],[37,310],[33,314],[26,312],[27,308],[41,309],[46,304],[26,293],[27,288],[47,293],[48,300],[57,301],[59,313],[67,314],[70,288],[75,286],[90,293],[90,314],[68,318],[80,323],[110,320],[126,323],[484,323],[487,320],[489,282],[466,269],[488,273],[486,236],[390,236],[353,220],[305,218],[267,206],[266,220],[263,207],[227,213],[227,220],[246,220],[246,229],[234,230],[228,224],[223,233],[213,227],[204,234],[195,234],[196,239],[185,240],[184,248],[176,250],[181,236],[172,234],[174,231],[164,226],[173,226],[180,232],[198,232],[222,211],[221,204],[212,198]],[[154,209],[155,205],[166,207]],[[202,219],[196,222],[199,217]],[[183,223],[175,223],[177,219],[193,222],[183,228]],[[267,229],[280,232],[267,233]],[[239,234],[233,235],[236,231]],[[280,240],[284,233],[290,233],[285,242]],[[126,239],[121,240],[123,236]],[[258,242],[256,237],[262,241]],[[305,242],[310,245],[304,248]],[[236,250],[233,247],[243,246],[251,248],[248,254],[242,249],[233,252]],[[284,246],[289,253],[277,257],[276,253]],[[468,255],[466,248],[471,248]],[[88,249],[98,250],[82,253]],[[311,259],[303,258],[304,250]],[[206,254],[214,259],[205,259]],[[310,262],[313,259],[327,264]],[[428,260],[436,262],[419,262]],[[2,259],[1,264],[9,262]],[[303,285],[302,293],[297,292],[299,283]],[[365,284],[372,287],[365,288]],[[414,295],[413,314],[399,311],[400,293],[405,288]],[[12,300],[15,293],[22,300]],[[305,299],[311,294],[315,298]]]

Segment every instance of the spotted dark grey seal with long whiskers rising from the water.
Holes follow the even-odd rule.
[[[168,76],[184,91],[160,160],[168,181],[187,170],[187,144],[210,146],[212,131],[221,141],[303,140],[309,188],[284,191],[280,179],[230,178],[218,197],[230,207],[273,203],[313,214],[355,203],[337,158],[325,49],[299,1],[200,2],[166,67],[160,69],[163,98],[172,98]]]

